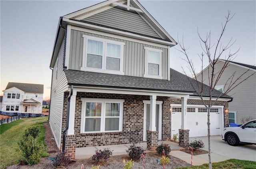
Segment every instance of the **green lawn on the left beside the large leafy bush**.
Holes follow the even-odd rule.
[[[31,117],[0,125],[0,166],[18,164],[19,159],[21,159],[21,154],[17,143],[25,133],[25,130],[29,127],[35,125],[40,126],[40,134],[37,141],[38,143],[44,143],[45,130],[43,122],[47,120],[48,117]],[[44,156],[47,155],[48,153],[46,152]]]

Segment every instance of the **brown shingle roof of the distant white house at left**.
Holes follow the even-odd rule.
[[[11,87],[17,87],[26,93],[44,93],[44,85],[42,84],[24,84],[9,82],[5,89],[10,89]]]

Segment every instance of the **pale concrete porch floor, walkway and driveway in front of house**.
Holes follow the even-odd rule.
[[[201,139],[205,145],[204,150],[208,151],[208,137],[191,137],[190,141]],[[182,147],[179,147],[178,143],[172,141],[159,141],[158,144],[167,143],[170,145],[172,151],[170,155],[182,159],[187,163],[191,163],[191,155],[183,151],[179,151]],[[122,144],[122,145],[107,145],[107,146],[98,146],[98,147],[83,147],[76,148],[76,159],[86,159],[90,158],[95,154],[96,149],[110,148],[113,150],[113,155],[124,155],[126,149],[129,148],[131,144]],[[139,146],[146,149],[146,143],[139,143]],[[211,154],[212,154],[212,163],[220,162],[227,159],[241,159],[256,161],[256,145],[243,145],[230,146],[228,143],[221,139],[220,135],[211,136]],[[202,165],[208,163],[208,154],[202,155],[193,155],[193,165]]]

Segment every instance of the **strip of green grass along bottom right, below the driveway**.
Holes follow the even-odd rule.
[[[180,167],[179,169],[208,169],[208,164],[193,167]],[[218,163],[212,163],[212,169],[256,169],[255,161],[229,159]]]

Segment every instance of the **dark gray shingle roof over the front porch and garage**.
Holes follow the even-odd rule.
[[[191,80],[192,84],[195,85],[196,81],[194,79],[189,78],[176,70],[170,70],[170,81],[78,70],[64,70],[64,72],[68,80],[68,85],[150,91],[188,92],[196,95],[195,90],[189,82],[189,80]],[[203,95],[208,96],[209,86],[203,84],[203,87]],[[215,90],[213,95],[220,95],[220,91]],[[232,98],[228,95],[225,97]]]

